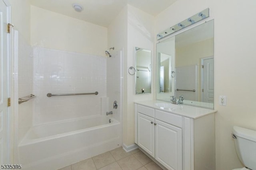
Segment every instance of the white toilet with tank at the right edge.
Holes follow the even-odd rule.
[[[234,126],[232,137],[238,158],[246,166],[233,170],[256,170],[256,131]]]

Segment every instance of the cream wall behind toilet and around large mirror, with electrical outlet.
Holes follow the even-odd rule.
[[[207,20],[214,19],[214,109],[218,110],[216,170],[242,167],[230,137],[232,126],[256,130],[256,79],[252,78],[256,72],[256,23],[251,21],[256,16],[255,6],[254,0],[179,0],[156,16],[155,35],[210,8]],[[227,96],[227,106],[218,105],[220,95]]]

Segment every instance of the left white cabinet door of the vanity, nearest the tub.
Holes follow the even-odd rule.
[[[138,145],[155,156],[154,118],[138,113]]]

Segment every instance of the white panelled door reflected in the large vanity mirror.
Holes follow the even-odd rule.
[[[213,103],[214,101],[214,70],[213,70],[213,58],[203,59],[203,92],[202,92],[202,102]]]

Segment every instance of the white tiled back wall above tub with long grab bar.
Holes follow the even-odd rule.
[[[33,48],[34,125],[101,114],[106,96],[106,57]],[[52,96],[96,92],[98,95]]]

